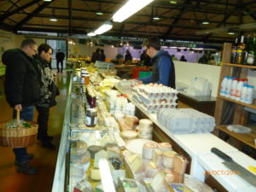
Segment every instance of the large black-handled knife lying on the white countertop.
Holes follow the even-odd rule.
[[[218,148],[212,148],[211,151],[213,154],[216,154],[219,158],[224,160],[224,166],[228,167],[230,171],[237,172],[236,175],[238,177],[241,177],[247,183],[256,187],[256,176],[252,172],[249,172],[246,168],[237,164],[229,155],[224,154],[224,152]]]

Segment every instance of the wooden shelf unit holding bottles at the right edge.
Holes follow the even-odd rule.
[[[247,79],[248,70],[256,69],[255,66],[230,63],[231,46],[232,44],[224,44],[222,65],[218,82],[218,97],[214,113],[214,117],[216,119],[216,127],[214,133],[217,135],[220,132],[228,134],[230,136],[228,143],[230,143],[231,145],[238,149],[241,149],[242,143],[255,149],[255,131],[249,134],[234,133],[227,129],[226,124],[247,125],[248,112],[244,110],[244,107],[256,109],[256,104],[238,102],[236,100],[219,95],[221,81],[222,79],[224,79],[224,76],[236,76],[238,79]],[[253,156],[253,158],[255,158],[255,156]]]

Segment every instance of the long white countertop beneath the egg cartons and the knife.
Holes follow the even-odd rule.
[[[119,91],[122,92],[118,87]],[[155,125],[160,127],[172,140],[183,148],[191,157],[191,170],[190,174],[203,180],[205,171],[224,171],[228,170],[221,163],[222,160],[215,154],[212,154],[211,148],[219,148],[224,153],[229,154],[241,166],[256,166],[256,160],[253,160],[247,154],[241,153],[237,148],[234,148],[229,143],[225,143],[220,138],[214,136],[212,133],[193,133],[193,134],[172,134],[166,127],[160,125],[157,121],[156,113],[148,113],[140,103],[132,99],[131,93],[125,93],[131,102],[137,108],[151,119]],[[232,154],[232,155],[231,155]],[[256,189],[247,184],[240,177],[230,175],[212,175],[218,183],[221,183],[225,189],[231,192],[256,192]],[[256,182],[256,181],[255,181]]]

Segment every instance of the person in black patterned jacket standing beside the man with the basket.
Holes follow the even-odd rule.
[[[49,44],[40,44],[38,47],[38,55],[35,55],[38,79],[40,82],[40,99],[36,105],[38,110],[38,139],[41,140],[44,148],[55,148],[55,145],[50,143],[52,137],[49,137],[47,133],[49,108],[56,105],[55,96],[58,91],[55,86],[53,73],[49,67],[52,53],[53,49]]]

